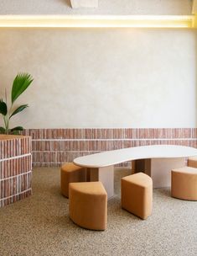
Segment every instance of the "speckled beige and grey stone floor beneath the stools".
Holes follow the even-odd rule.
[[[70,221],[59,168],[35,168],[34,195],[0,209],[0,255],[196,256],[197,202],[173,199],[168,188],[154,189],[153,215],[141,221],[120,206],[120,179],[128,173],[116,171],[107,229],[95,232]]]

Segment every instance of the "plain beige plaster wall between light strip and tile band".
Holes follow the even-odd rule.
[[[196,34],[187,29],[1,29],[0,95],[34,84],[13,125],[195,127]]]

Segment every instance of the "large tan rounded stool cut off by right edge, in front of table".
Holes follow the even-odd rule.
[[[184,200],[197,200],[197,168],[185,166],[172,170],[171,195]]]

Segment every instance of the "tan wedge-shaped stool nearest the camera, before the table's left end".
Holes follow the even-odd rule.
[[[80,227],[106,229],[107,195],[100,181],[69,184],[70,219]]]

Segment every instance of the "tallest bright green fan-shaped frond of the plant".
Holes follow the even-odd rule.
[[[20,94],[22,94],[29,87],[33,80],[33,77],[31,77],[29,73],[18,73],[13,80],[13,88],[11,93],[12,104],[16,99],[18,99]]]

